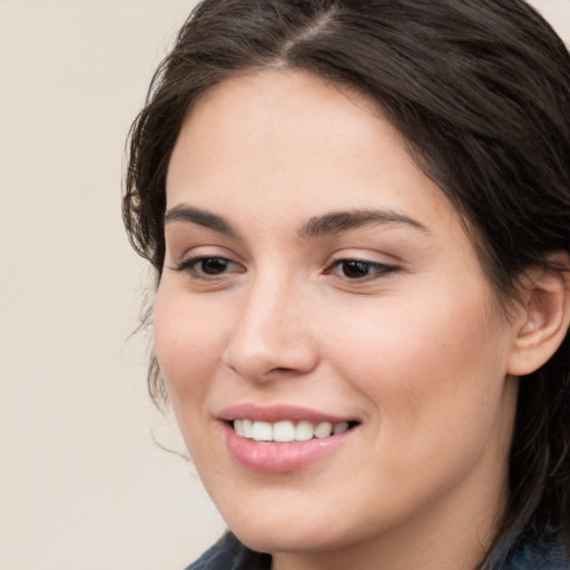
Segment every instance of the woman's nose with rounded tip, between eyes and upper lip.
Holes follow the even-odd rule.
[[[237,312],[223,362],[253,382],[305,375],[318,363],[313,322],[298,289],[258,279]]]

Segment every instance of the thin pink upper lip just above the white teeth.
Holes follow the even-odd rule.
[[[301,407],[294,405],[257,405],[250,403],[234,404],[224,407],[218,417],[223,421],[252,420],[259,422],[275,423],[284,420],[306,421],[311,423],[330,422],[333,424],[356,421],[354,417],[342,417],[340,415]]]

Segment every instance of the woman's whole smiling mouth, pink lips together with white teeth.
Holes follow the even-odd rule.
[[[333,453],[358,422],[314,410],[240,404],[219,419],[230,455],[248,470],[285,473]]]

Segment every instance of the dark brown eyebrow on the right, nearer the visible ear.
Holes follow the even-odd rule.
[[[384,209],[354,209],[348,212],[333,212],[324,216],[311,218],[298,230],[301,237],[320,237],[337,235],[368,224],[406,225],[429,233],[426,226],[404,214]]]

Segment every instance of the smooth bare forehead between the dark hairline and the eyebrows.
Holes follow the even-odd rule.
[[[305,219],[381,207],[428,227],[456,218],[372,98],[291,70],[234,77],[196,101],[167,178],[167,207],[188,203]]]

